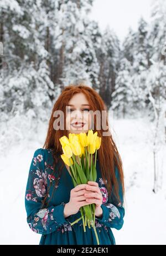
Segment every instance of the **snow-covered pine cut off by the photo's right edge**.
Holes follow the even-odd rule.
[[[149,109],[154,109],[154,102],[160,101],[160,104],[165,100],[165,65],[166,53],[165,49],[165,34],[166,34],[166,3],[163,0],[153,1],[151,12],[151,25],[147,34],[147,40],[151,46],[151,66],[148,69],[146,86],[148,88]],[[162,81],[162,82],[161,82]],[[158,98],[159,97],[159,98]],[[164,103],[162,104],[162,108]],[[152,118],[155,117],[155,112],[152,113]]]

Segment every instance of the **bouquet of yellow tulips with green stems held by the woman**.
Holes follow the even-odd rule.
[[[69,138],[63,136],[60,138],[63,153],[61,158],[64,163],[69,166],[74,187],[79,184],[87,184],[88,181],[96,182],[96,157],[97,150],[101,145],[101,137],[97,136],[97,132],[93,133],[89,130],[86,133],[69,133]],[[91,163],[90,163],[91,154]],[[95,162],[92,161],[92,155],[95,154]],[[76,156],[79,159],[79,163],[76,161]],[[85,160],[84,160],[85,158]],[[84,232],[86,232],[85,226],[94,228],[94,232],[99,244],[96,228],[95,228],[95,204],[84,205],[80,208],[81,218],[75,220],[71,225],[79,222],[82,219]],[[85,219],[84,219],[85,217]]]

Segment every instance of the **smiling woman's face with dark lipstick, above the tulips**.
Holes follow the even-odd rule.
[[[76,93],[66,106],[66,130],[68,134],[87,133],[91,129],[92,118],[89,111],[89,102],[84,93]]]

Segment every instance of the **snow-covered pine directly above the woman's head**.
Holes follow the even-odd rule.
[[[91,2],[63,1],[60,5],[56,49],[60,52],[59,83],[62,87],[78,82],[91,87],[98,84],[99,67],[87,19]]]

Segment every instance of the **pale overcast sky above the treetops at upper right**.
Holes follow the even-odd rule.
[[[90,17],[98,22],[101,29],[107,24],[122,40],[129,26],[137,29],[142,16],[147,22],[150,18],[152,0],[94,0]]]

